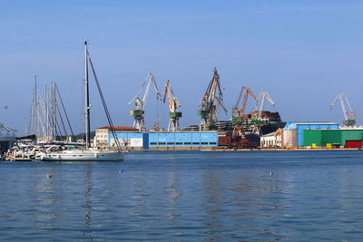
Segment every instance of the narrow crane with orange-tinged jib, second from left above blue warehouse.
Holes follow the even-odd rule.
[[[175,97],[174,92],[172,92],[172,86],[170,81],[166,81],[165,84],[165,92],[163,102],[166,102],[166,98],[168,98],[169,104],[169,125],[168,131],[179,131],[179,118],[182,117],[182,111],[177,111],[178,108],[181,106],[181,103]]]

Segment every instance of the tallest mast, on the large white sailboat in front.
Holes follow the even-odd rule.
[[[90,148],[90,92],[88,87],[88,51],[87,41],[84,42],[84,118],[85,118],[85,149]]]

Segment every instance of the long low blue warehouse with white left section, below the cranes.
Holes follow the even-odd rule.
[[[131,150],[200,150],[218,146],[217,131],[117,131],[117,139]],[[108,145],[114,146],[113,133]]]

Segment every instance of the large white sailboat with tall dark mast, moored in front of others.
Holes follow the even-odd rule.
[[[123,160],[126,151],[120,150],[93,150],[90,148],[90,102],[89,102],[89,85],[88,85],[88,60],[89,53],[87,42],[84,42],[84,118],[85,118],[85,148],[75,150],[44,151],[38,154],[38,159],[42,161],[119,161]],[[91,62],[91,60],[90,60]],[[92,62],[91,67],[93,68]],[[94,70],[93,70],[94,74]],[[96,78],[96,77],[95,77]],[[96,80],[96,82],[98,82]],[[103,97],[102,97],[103,98]],[[103,103],[105,104],[105,103]],[[108,111],[107,118],[110,119]],[[109,120],[110,121],[110,120]],[[114,132],[113,132],[114,134]],[[116,137],[113,137],[115,140]]]

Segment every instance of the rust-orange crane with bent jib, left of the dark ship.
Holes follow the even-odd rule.
[[[239,142],[240,139],[244,137],[244,129],[242,127],[242,122],[244,122],[244,112],[246,111],[246,105],[249,95],[256,101],[259,102],[259,99],[253,94],[252,90],[249,87],[242,86],[240,90],[240,95],[237,99],[236,104],[232,107],[232,119],[233,122],[233,132],[232,139],[234,142]],[[242,105],[240,106],[240,99],[243,96]]]

